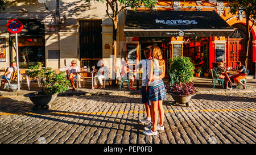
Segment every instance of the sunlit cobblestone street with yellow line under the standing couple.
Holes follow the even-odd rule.
[[[256,142],[255,93],[197,94],[191,107],[164,100],[164,131],[144,136],[137,91],[85,90],[59,95],[49,110],[28,98],[0,96],[0,143],[250,143]]]

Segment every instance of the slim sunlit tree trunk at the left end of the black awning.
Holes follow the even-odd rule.
[[[117,72],[117,21],[118,21],[118,15],[115,16],[112,20],[113,22],[113,52],[114,55],[114,72]],[[117,85],[117,80],[112,80],[112,86]]]

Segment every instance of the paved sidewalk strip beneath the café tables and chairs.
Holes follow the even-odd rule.
[[[210,86],[210,83],[212,82],[212,78],[205,78],[205,77],[194,77],[192,80],[195,83],[195,88],[197,91],[197,94],[211,94],[211,93],[256,93],[256,79],[246,79],[247,81],[247,89],[243,89],[242,86],[240,86],[240,89],[237,88],[233,90],[227,90],[222,89],[222,86],[219,86],[216,84],[215,88],[213,86]],[[119,81],[118,81],[119,82]],[[168,85],[168,79],[164,79],[165,85]],[[136,82],[134,82],[134,87],[136,86]],[[79,88],[78,91],[72,91],[71,86],[69,87],[69,90],[66,91],[65,95],[72,95],[72,94],[80,94],[82,92],[89,93],[97,93],[97,92],[104,92],[105,90],[113,91],[115,94],[134,94],[139,95],[141,94],[141,82],[139,82],[139,90],[130,91],[127,89],[127,83],[124,83],[122,90],[119,90],[119,83],[118,87],[109,86],[108,82],[106,82],[105,89],[91,89],[92,84],[86,83],[85,87]],[[23,82],[22,88],[20,91],[16,92],[9,92],[8,90],[3,90],[2,87],[0,88],[0,95],[3,97],[11,97],[11,96],[20,96],[27,93],[31,93],[34,91],[38,91],[39,87],[35,81],[31,82],[30,90],[28,90],[26,82]],[[63,94],[64,95],[64,94]]]

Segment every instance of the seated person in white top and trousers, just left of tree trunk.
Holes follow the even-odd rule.
[[[100,82],[100,87],[98,87],[99,89],[102,89],[103,88],[103,82],[102,82],[102,79],[104,78],[108,78],[109,76],[109,69],[107,66],[105,66],[105,61],[102,60],[102,61],[99,61],[100,64],[101,64],[101,68],[100,69],[95,69],[93,68],[93,70],[96,70],[97,71],[97,74],[96,76],[94,77],[94,89],[97,88],[97,81]]]

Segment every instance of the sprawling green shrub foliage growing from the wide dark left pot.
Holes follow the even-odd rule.
[[[42,83],[41,90],[43,94],[64,93],[68,90],[70,82],[65,77],[65,72],[56,74],[51,68],[43,68],[41,62],[37,62],[35,66],[31,66],[28,71],[28,76],[31,78],[39,78]]]

